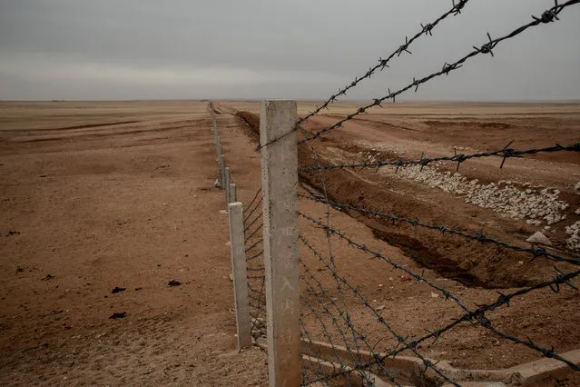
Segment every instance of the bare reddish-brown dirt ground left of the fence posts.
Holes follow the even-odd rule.
[[[0,384],[265,384],[235,352],[206,103],[0,106]]]

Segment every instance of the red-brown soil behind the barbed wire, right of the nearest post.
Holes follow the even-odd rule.
[[[259,117],[249,112],[240,112],[238,115],[250,128],[253,128],[250,138],[257,144],[256,132],[259,127]],[[341,117],[343,115],[332,116],[332,119],[328,115],[317,116],[303,128],[309,132],[316,132],[324,128],[324,125],[332,124]],[[563,127],[557,131],[550,129],[550,120],[546,118],[535,118],[533,121],[527,118],[526,125],[534,128],[533,132],[537,134],[536,140],[532,141],[529,138],[529,131],[522,129],[518,132],[512,120],[497,122],[497,117],[493,118],[494,122],[483,123],[480,118],[477,118],[475,122],[462,118],[464,121],[459,123],[449,121],[448,126],[442,121],[430,122],[427,128],[426,124],[417,124],[409,119],[408,121],[412,122],[405,123],[408,127],[399,130],[392,130],[395,125],[383,122],[383,118],[378,117],[377,114],[371,115],[370,119],[357,120],[354,124],[345,125],[344,129],[325,134],[322,141],[312,142],[318,154],[319,164],[336,162],[337,154],[339,154],[337,149],[356,155],[360,151],[369,151],[371,146],[374,147],[375,144],[378,146],[379,141],[386,141],[386,139],[393,144],[392,151],[407,151],[406,159],[421,156],[419,148],[410,149],[409,143],[413,141],[427,144],[430,149],[429,155],[444,154],[449,145],[477,146],[475,149],[478,151],[492,151],[502,148],[514,138],[517,139],[518,144],[523,144],[517,147],[518,149],[549,146],[556,143],[572,144],[577,140],[575,137],[577,131],[570,128],[577,128],[580,122],[577,119],[567,118],[566,128]],[[541,124],[535,126],[536,120]],[[438,133],[437,130],[435,133],[431,130],[433,126],[437,126]],[[506,131],[506,133],[501,135],[494,133],[498,130]],[[524,134],[526,135],[523,141],[520,141],[518,135],[524,136]],[[489,138],[493,138],[493,141],[482,144],[482,139]],[[369,146],[366,148],[361,146],[361,141],[367,141]],[[441,154],[434,154],[435,150]],[[462,150],[462,152],[469,153],[468,150]],[[374,152],[374,154],[378,160],[393,160],[397,157],[396,152]],[[508,164],[502,170],[499,170],[496,165],[498,164],[496,159],[493,159],[495,164],[489,164],[487,160],[476,161],[471,165],[467,165],[468,162],[461,165],[461,171],[471,178],[476,177],[488,182],[508,180],[517,175],[535,184],[539,182],[555,185],[563,191],[563,196],[572,204],[570,211],[566,212],[570,218],[566,223],[574,223],[578,220],[579,217],[574,210],[580,201],[573,188],[580,173],[580,168],[577,166],[578,154],[534,155],[526,160],[529,160],[526,162],[528,164],[516,164],[513,168],[511,168],[512,161],[508,160]],[[301,144],[299,147],[299,164],[315,165],[308,143]],[[443,170],[446,170],[445,168],[444,165]],[[566,174],[551,176],[550,170],[562,170],[566,171]],[[310,188],[314,187],[318,193],[326,189],[329,199],[338,203],[381,213],[393,213],[409,219],[418,218],[423,223],[447,224],[467,233],[478,233],[485,228],[487,236],[524,247],[529,247],[525,239],[535,231],[526,223],[506,219],[490,210],[464,203],[463,200],[457,199],[450,193],[437,192],[437,190],[410,181],[385,178],[372,169],[358,169],[356,172],[340,169],[327,171],[324,173],[324,184],[321,183],[321,176],[318,172],[301,172],[300,181],[308,184]],[[310,214],[322,223],[326,222],[324,205],[300,202],[300,206],[301,212]],[[359,226],[352,226],[344,218],[345,215],[358,220]],[[377,246],[375,251],[383,253],[409,270],[415,273],[425,273],[432,283],[443,285],[451,293],[457,293],[471,309],[477,308],[477,304],[495,300],[494,289],[509,293],[513,288],[546,281],[555,274],[555,263],[546,259],[530,261],[528,253],[515,253],[494,244],[466,241],[453,235],[425,231],[421,228],[415,229],[409,224],[391,223],[361,215],[356,211],[346,211],[342,214],[332,210],[331,225],[346,232],[356,242],[369,247]],[[301,227],[303,227],[300,230],[301,233],[312,235],[308,239],[320,253],[328,253],[328,246],[325,246],[326,238],[322,231],[313,231],[316,227],[312,228],[312,224],[304,220]],[[398,249],[378,243],[377,238],[386,241],[388,246],[398,247]],[[563,241],[565,239],[563,228],[559,228],[557,233],[550,234],[550,238],[553,241]],[[372,254],[357,251],[336,238],[332,239],[332,243],[333,255],[340,273],[347,277],[350,283],[358,285],[360,293],[365,294],[375,307],[385,308],[384,310],[388,312],[383,316],[391,327],[404,337],[408,337],[409,340],[420,337],[428,332],[427,330],[444,326],[451,321],[451,318],[462,314],[457,304],[443,301],[442,295],[436,290],[424,283],[418,284],[408,274],[394,270]],[[568,253],[568,256],[573,256],[573,254]],[[317,279],[324,284],[330,297],[340,299],[337,284],[334,283],[332,275],[329,275],[329,270],[312,257],[309,264],[314,267],[313,271]],[[561,270],[573,269],[571,265],[566,264],[556,266]],[[316,288],[316,282],[312,281],[312,284]],[[344,293],[354,324],[367,334],[371,345],[376,344],[377,350],[386,352],[394,348],[397,341],[389,334],[386,327],[377,323],[373,314],[361,304],[360,299],[353,296],[353,293],[348,290]],[[320,299],[329,303],[328,295],[313,292],[312,288],[308,294],[310,305],[317,305]],[[562,289],[562,292],[558,294],[545,290],[518,298],[517,303],[512,303],[510,307],[500,308],[495,313],[488,313],[490,314],[488,317],[501,331],[515,334],[523,339],[528,335],[534,342],[542,342],[548,348],[554,345],[560,352],[565,352],[576,349],[580,340],[580,336],[575,334],[575,325],[578,322],[575,308],[579,301],[578,293],[569,288]],[[327,308],[332,310],[331,305],[327,305]],[[334,329],[332,319],[325,313],[320,313],[324,311],[329,314],[328,310],[320,306],[315,309],[318,309],[318,313],[324,316],[322,320],[326,322],[327,331],[333,332],[335,341],[340,343],[339,330]],[[310,336],[316,336],[321,341],[328,342],[328,334],[321,329],[319,315],[307,314],[308,316],[304,319],[307,322],[306,325],[312,327]],[[342,329],[344,330],[344,327]],[[450,360],[457,367],[467,368],[506,368],[537,357],[537,352],[534,353],[521,345],[502,340],[481,327],[477,328],[468,324],[447,332],[445,336],[447,337],[443,341],[441,341],[442,337],[432,345],[422,346],[421,349],[424,351],[421,352],[436,359]],[[353,343],[350,342],[350,345],[352,346]],[[360,345],[364,347],[363,343]],[[408,354],[413,355],[411,352]],[[574,375],[566,377],[572,378],[568,382],[578,381]]]

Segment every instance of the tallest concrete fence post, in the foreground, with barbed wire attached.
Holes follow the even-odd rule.
[[[299,386],[300,288],[296,102],[263,101],[260,109],[264,263],[271,387]]]

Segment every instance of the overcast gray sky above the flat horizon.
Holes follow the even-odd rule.
[[[408,84],[553,0],[470,0],[349,99]],[[451,0],[0,0],[0,99],[323,99]],[[407,100],[580,99],[580,5]]]

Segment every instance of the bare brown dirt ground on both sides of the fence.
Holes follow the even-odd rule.
[[[260,186],[261,159],[251,130],[235,114],[255,114],[258,104],[215,105],[238,196],[249,203]],[[299,114],[312,105],[300,103]],[[356,107],[337,104],[305,129],[319,130]],[[575,104],[395,104],[325,135],[315,146],[328,162],[358,160],[360,152],[372,148],[374,157],[418,158],[422,152],[452,154],[456,147],[463,153],[496,150],[514,139],[516,149],[571,144],[578,141],[579,129],[580,106]],[[300,164],[312,164],[308,148],[300,154]],[[510,159],[501,170],[499,162],[470,161],[460,173],[486,182],[514,180],[559,189],[570,207],[549,236],[565,249],[565,225],[580,220],[574,213],[580,205],[574,190],[580,181],[578,154]],[[235,351],[227,215],[220,213],[223,192],[213,187],[216,174],[206,102],[0,104],[0,383],[266,384],[264,354]],[[301,174],[301,179],[320,184],[316,174]],[[525,237],[542,229],[388,171],[328,172],[325,182],[329,196],[340,203],[420,215],[421,221],[463,230],[485,227],[510,243],[525,245]],[[317,220],[326,221],[326,209],[300,201],[300,212]],[[424,273],[471,308],[495,300],[496,291],[508,293],[555,273],[553,263],[529,262],[525,254],[394,227],[356,213],[331,210],[330,218],[353,240]],[[328,252],[326,234],[318,226],[301,219],[300,233],[320,253]],[[339,273],[409,340],[462,314],[427,283],[412,281],[344,241],[331,243]],[[494,262],[497,256],[503,260]],[[303,282],[305,303],[320,311],[320,298],[344,298],[353,323],[376,351],[395,347],[386,327],[353,293],[340,295],[329,271],[303,246],[301,257],[328,290],[315,293],[310,286],[316,283]],[[451,261],[445,268],[436,264],[441,257]],[[181,284],[170,286],[171,281]],[[116,287],[125,290],[113,293]],[[542,290],[517,297],[488,317],[504,332],[566,352],[580,346],[579,303],[578,293],[568,287],[557,294]],[[322,324],[308,307],[304,310],[306,329],[313,339],[323,340]],[[116,313],[125,314],[110,318]],[[322,321],[331,330],[329,314]],[[344,345],[340,338],[336,343]],[[469,324],[418,350],[457,368],[506,368],[539,358]],[[575,374],[562,372],[549,385],[578,381]]]

